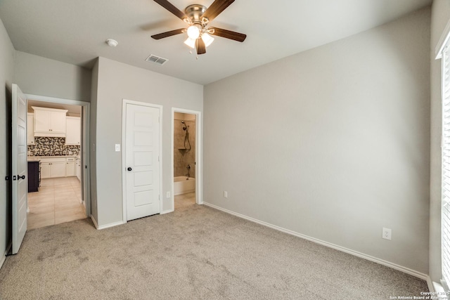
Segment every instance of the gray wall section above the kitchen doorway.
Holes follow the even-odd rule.
[[[89,102],[91,70],[16,51],[14,83],[24,93]]]

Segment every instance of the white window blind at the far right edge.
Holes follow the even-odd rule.
[[[442,283],[450,284],[450,47],[442,51]]]

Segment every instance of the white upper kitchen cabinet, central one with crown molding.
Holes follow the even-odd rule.
[[[34,136],[65,137],[66,117],[68,110],[35,107],[34,110]]]

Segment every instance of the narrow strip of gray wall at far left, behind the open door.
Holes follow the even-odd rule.
[[[14,76],[14,48],[0,20],[0,266],[11,242],[11,84]]]

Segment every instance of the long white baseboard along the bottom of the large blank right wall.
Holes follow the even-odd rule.
[[[288,230],[288,229],[285,229],[285,228],[282,228],[282,227],[278,227],[278,226],[272,225],[270,223],[266,223],[264,221],[259,221],[257,219],[251,218],[250,216],[245,216],[243,214],[238,214],[238,213],[236,213],[234,211],[230,211],[228,209],[224,209],[222,207],[218,207],[218,206],[216,206],[214,204],[210,204],[210,203],[207,203],[207,202],[203,202],[203,204],[205,204],[208,207],[212,207],[214,209],[218,209],[220,211],[224,211],[227,214],[232,214],[233,216],[238,216],[239,218],[246,219],[248,221],[252,221],[252,222],[258,223],[260,225],[263,225],[263,226],[266,226],[266,227],[269,227],[269,228],[281,231],[283,233],[288,233],[290,235],[295,235],[296,237],[301,237],[304,240],[309,240],[311,242],[315,242],[317,244],[321,244],[323,246],[330,247],[330,248],[339,250],[341,252],[345,252],[345,253],[348,253],[348,254],[352,254],[354,256],[358,256],[361,259],[366,259],[368,261],[373,261],[374,263],[380,263],[380,265],[387,266],[387,267],[393,268],[395,270],[399,270],[399,271],[401,271],[403,273],[406,273],[406,274],[409,274],[409,275],[413,275],[413,276],[415,276],[417,278],[420,278],[420,279],[423,279],[423,280],[428,280],[428,277],[429,277],[427,274],[420,273],[420,272],[418,272],[416,270],[412,270],[412,269],[406,268],[404,266],[399,266],[399,265],[397,265],[397,263],[391,263],[390,261],[385,261],[383,259],[378,259],[378,258],[376,258],[374,256],[370,256],[370,255],[367,255],[367,254],[364,254],[364,253],[361,253],[361,252],[354,251],[352,249],[347,249],[345,247],[341,247],[341,246],[339,246],[337,244],[332,244],[330,242],[325,242],[323,240],[318,240],[318,239],[316,239],[314,237],[309,237],[307,235],[302,235],[301,233],[296,233],[293,230]]]

